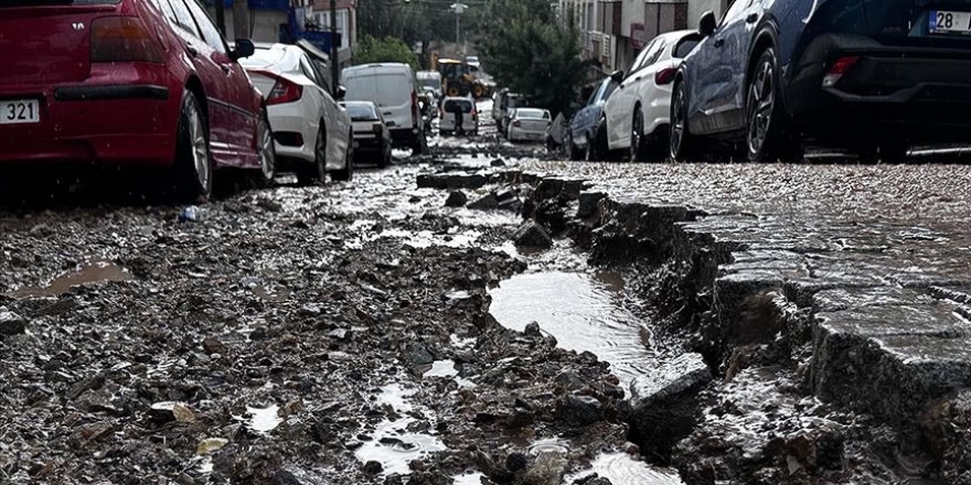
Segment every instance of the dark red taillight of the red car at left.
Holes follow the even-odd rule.
[[[102,17],[92,22],[93,63],[163,62],[162,52],[140,20]]]

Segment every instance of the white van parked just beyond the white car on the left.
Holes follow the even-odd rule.
[[[381,109],[394,147],[425,151],[425,127],[418,108],[415,72],[407,64],[365,64],[341,75],[348,101],[372,101]]]

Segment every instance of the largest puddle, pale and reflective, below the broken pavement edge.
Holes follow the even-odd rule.
[[[523,331],[537,322],[566,349],[590,352],[610,363],[623,389],[651,371],[651,334],[616,300],[616,273],[544,272],[519,274],[490,291],[490,312],[502,325]]]

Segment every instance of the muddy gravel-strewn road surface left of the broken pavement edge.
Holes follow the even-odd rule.
[[[0,483],[673,481],[634,461],[607,364],[489,313],[531,258],[584,258],[415,188],[441,166],[195,212],[4,208]]]

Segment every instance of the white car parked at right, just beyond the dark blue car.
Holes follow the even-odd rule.
[[[633,161],[666,157],[671,83],[681,60],[701,40],[695,31],[661,34],[641,51],[626,73],[613,73],[611,77],[619,85],[607,99],[602,118],[607,150],[622,150]]]

